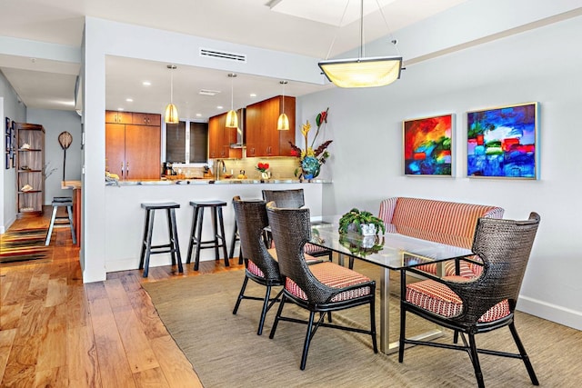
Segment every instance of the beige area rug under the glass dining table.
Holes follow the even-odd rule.
[[[366,272],[361,263],[356,269]],[[299,362],[306,326],[279,323],[268,338],[275,308],[266,317],[263,335],[256,335],[261,303],[245,300],[232,310],[242,271],[207,274],[143,284],[168,332],[193,364],[206,388],[215,387],[471,387],[476,386],[466,353],[431,347],[411,348],[404,363],[397,354],[373,353],[369,336],[319,328],[309,350],[305,371]],[[247,290],[262,295],[249,282]],[[297,314],[299,309],[293,307]],[[288,312],[286,307],[286,311]],[[336,320],[342,319],[340,313]],[[366,308],[346,316],[366,322]],[[409,317],[411,315],[408,315]],[[396,323],[396,322],[394,322]],[[542,386],[577,386],[582,379],[582,333],[518,313],[517,330],[525,343]],[[446,333],[440,341],[451,342]],[[513,351],[508,329],[477,336],[480,347]],[[519,360],[482,355],[488,387],[530,387]]]

